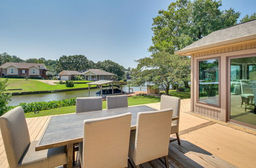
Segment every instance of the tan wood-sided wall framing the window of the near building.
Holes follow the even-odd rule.
[[[191,111],[207,117],[228,121],[228,58],[239,55],[256,55],[256,40],[244,41],[225,46],[204,49],[190,53],[191,55]],[[220,64],[220,106],[212,106],[198,102],[198,61],[219,58]]]

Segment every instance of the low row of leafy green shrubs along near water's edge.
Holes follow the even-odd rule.
[[[35,112],[45,109],[59,108],[76,105],[76,98],[64,99],[59,101],[49,101],[49,102],[32,102],[32,103],[19,103],[18,106],[22,106],[24,108],[25,113]],[[16,106],[9,106],[9,109],[14,108]]]

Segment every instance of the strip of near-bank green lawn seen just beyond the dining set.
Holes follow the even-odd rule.
[[[132,96],[128,97],[128,105],[140,105],[140,104],[148,104],[148,103],[157,103],[160,102],[159,97],[153,96]],[[106,101],[102,101],[102,108],[106,108]],[[38,114],[25,113],[26,118],[31,117],[42,117],[42,116],[51,116],[51,115],[62,115],[62,114],[69,114],[75,113],[75,106],[68,106],[68,107],[61,107],[61,108],[54,108],[48,110],[41,110]]]

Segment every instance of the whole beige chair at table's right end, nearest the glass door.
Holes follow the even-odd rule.
[[[173,96],[161,96],[160,109],[172,108],[174,109],[173,115],[180,117],[180,98]],[[174,120],[172,122],[172,131],[170,134],[176,133],[178,144],[180,145],[180,136],[179,136],[179,120]]]

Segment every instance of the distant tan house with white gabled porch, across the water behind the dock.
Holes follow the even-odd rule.
[[[112,80],[113,76],[117,76],[116,74],[103,71],[101,69],[89,69],[87,71],[82,72],[85,76],[86,80]]]

